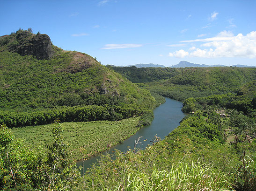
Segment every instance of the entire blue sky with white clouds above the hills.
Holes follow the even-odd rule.
[[[180,61],[256,66],[256,0],[0,0],[0,36],[19,28],[103,65]]]

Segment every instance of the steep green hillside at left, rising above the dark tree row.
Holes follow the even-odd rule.
[[[56,112],[74,106],[123,107],[129,104],[131,107],[137,105],[149,110],[155,107],[155,99],[147,90],[139,89],[89,55],[64,51],[51,44],[50,48],[42,49],[48,48],[46,51],[51,51],[51,56],[47,59],[37,58],[38,51],[34,51],[33,43],[39,43],[40,38],[36,38],[38,35],[43,34],[18,30],[0,37],[1,123],[6,122],[7,116],[10,116],[8,120],[12,123],[9,124],[16,124],[15,120],[22,121],[25,115],[24,124],[20,124],[23,126],[27,124],[25,121],[33,118],[31,112],[44,115],[44,111],[49,109],[55,109]],[[21,53],[20,50],[24,50],[24,47],[32,48],[27,53],[34,55],[22,55],[24,51]],[[19,116],[20,113],[22,116]],[[39,114],[35,115],[38,118]],[[44,118],[47,117],[44,115]],[[30,121],[33,120],[38,121]]]

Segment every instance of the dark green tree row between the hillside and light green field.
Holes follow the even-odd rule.
[[[53,123],[55,119],[59,119],[61,122],[121,120],[146,114],[152,114],[152,110],[147,110],[137,104],[125,104],[124,106],[88,105],[49,109],[31,113],[4,111],[0,114],[0,123],[5,123],[9,127],[22,127],[26,125]]]

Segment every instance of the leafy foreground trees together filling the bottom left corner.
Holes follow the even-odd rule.
[[[56,123],[52,131],[53,142],[47,146],[49,153],[45,156],[15,139],[5,125],[1,126],[0,189],[73,190],[80,172],[75,163],[69,160],[69,151],[61,132],[61,127]]]

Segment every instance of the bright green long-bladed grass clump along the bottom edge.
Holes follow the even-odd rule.
[[[158,171],[154,167],[150,174],[131,170],[126,174],[126,185],[116,186],[113,191],[230,191],[233,190],[228,176],[205,164],[183,164],[172,166],[170,171]],[[106,191],[110,191],[107,190]]]

